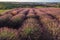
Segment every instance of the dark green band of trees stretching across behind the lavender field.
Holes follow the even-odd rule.
[[[16,2],[0,2],[0,9],[12,9],[12,8],[27,8],[27,7],[60,7],[60,3],[55,4],[25,4],[25,3],[16,3]]]

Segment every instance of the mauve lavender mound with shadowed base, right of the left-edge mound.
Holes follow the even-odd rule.
[[[23,22],[23,20],[25,19],[25,15],[23,14],[18,14],[16,16],[13,16],[10,20],[8,25],[13,27],[13,28],[18,28],[18,26],[20,26],[20,24]]]

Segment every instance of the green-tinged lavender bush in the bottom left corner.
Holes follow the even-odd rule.
[[[17,34],[7,27],[0,28],[0,40],[16,40]]]

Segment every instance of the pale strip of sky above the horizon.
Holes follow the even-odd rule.
[[[60,0],[0,0],[0,2],[60,2]]]

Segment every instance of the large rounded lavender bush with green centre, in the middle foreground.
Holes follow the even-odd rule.
[[[35,18],[28,18],[18,33],[20,40],[40,40],[41,31],[38,21]]]

